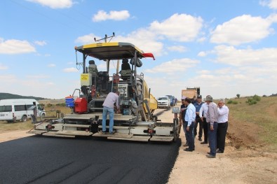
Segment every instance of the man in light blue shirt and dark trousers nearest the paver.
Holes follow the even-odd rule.
[[[195,106],[191,104],[191,99],[184,99],[184,104],[187,105],[187,111],[184,115],[184,127],[186,127],[187,141],[189,143],[189,148],[184,149],[185,151],[194,151],[194,122],[196,117]]]

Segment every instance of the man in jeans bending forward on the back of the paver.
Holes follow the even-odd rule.
[[[109,134],[114,134],[114,104],[116,104],[116,112],[120,112],[119,92],[109,92],[103,103],[102,113],[102,134],[106,133],[106,120],[109,113]]]

